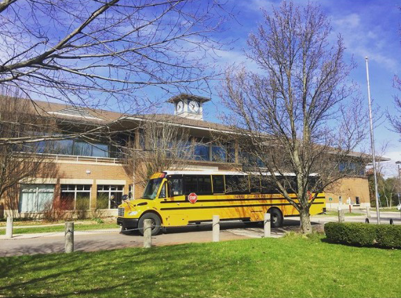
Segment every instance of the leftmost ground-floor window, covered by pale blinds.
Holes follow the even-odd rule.
[[[21,184],[19,212],[41,212],[51,208],[54,199],[52,184]]]

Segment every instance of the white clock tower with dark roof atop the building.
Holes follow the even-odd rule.
[[[174,103],[174,115],[184,118],[203,120],[203,103],[211,100],[203,96],[179,94],[167,100]]]

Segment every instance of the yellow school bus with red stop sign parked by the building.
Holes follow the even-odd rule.
[[[288,176],[286,181],[290,180]],[[220,220],[259,222],[268,212],[272,227],[280,227],[284,216],[299,215],[275,186],[260,177],[221,171],[154,173],[141,198],[126,200],[118,207],[117,225],[123,230],[139,228],[142,233],[143,221],[150,219],[155,235],[161,227],[210,222],[215,215]],[[325,207],[325,194],[319,193],[310,213],[325,212]]]

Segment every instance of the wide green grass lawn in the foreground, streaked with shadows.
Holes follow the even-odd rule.
[[[401,251],[262,238],[0,258],[0,297],[400,297]]]

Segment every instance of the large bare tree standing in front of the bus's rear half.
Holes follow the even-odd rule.
[[[346,81],[354,65],[343,60],[341,36],[330,45],[320,8],[284,1],[263,13],[247,52],[259,70],[229,69],[220,96],[248,170],[269,173],[263,179],[300,212],[302,232],[310,233],[309,209],[318,193],[363,170],[352,150],[366,135],[367,117]],[[310,179],[313,173],[319,175]]]

